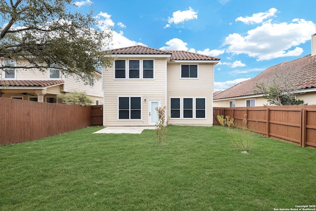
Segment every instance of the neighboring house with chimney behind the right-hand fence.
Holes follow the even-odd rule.
[[[296,99],[308,105],[316,104],[316,34],[312,35],[312,54],[269,67],[256,77],[213,93],[214,107],[249,107],[268,104],[262,94],[254,94],[255,84],[269,83],[275,77],[295,85]]]

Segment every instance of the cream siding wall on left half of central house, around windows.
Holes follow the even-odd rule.
[[[127,58],[119,57],[119,60],[123,59]],[[148,126],[149,100],[161,100],[161,106],[166,104],[166,59],[146,59],[154,60],[154,79],[114,79],[113,68],[103,69],[104,126]],[[118,120],[118,97],[141,97],[141,120]]]

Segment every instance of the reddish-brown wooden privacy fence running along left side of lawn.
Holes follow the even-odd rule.
[[[0,98],[0,145],[36,140],[91,125],[91,106]]]

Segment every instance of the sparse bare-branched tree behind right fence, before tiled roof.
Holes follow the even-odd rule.
[[[276,70],[268,81],[255,84],[253,92],[263,94],[263,98],[271,105],[302,105],[304,100],[296,99],[295,96],[300,94],[299,84],[305,79],[293,79],[291,73],[291,70],[287,73]]]

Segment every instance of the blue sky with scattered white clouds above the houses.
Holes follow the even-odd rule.
[[[77,0],[94,10],[111,48],[144,44],[221,58],[214,90],[227,89],[268,67],[311,54],[315,0]]]

